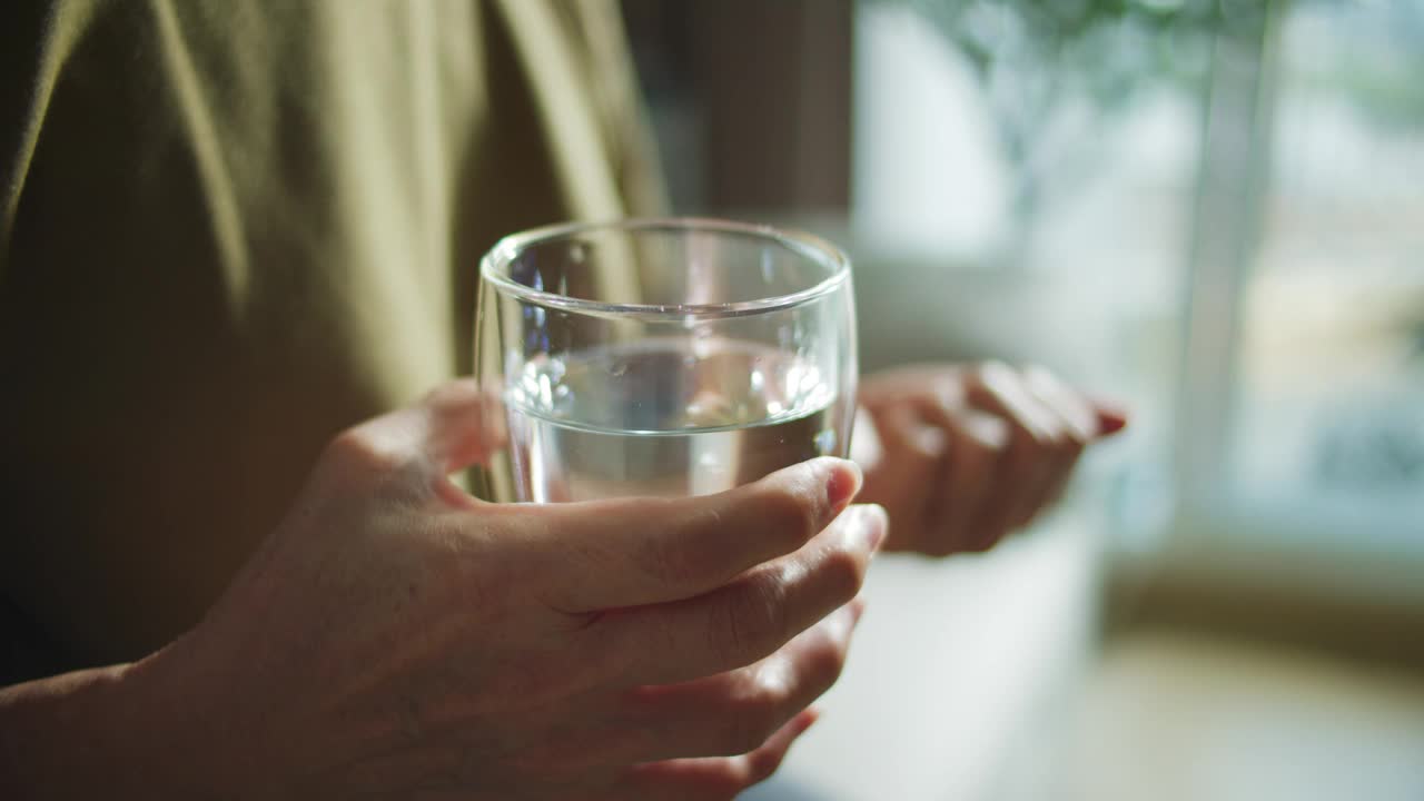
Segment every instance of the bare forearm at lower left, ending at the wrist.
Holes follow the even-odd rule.
[[[0,690],[0,797],[141,798],[187,782],[134,666]]]

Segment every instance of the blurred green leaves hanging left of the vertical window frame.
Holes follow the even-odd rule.
[[[1218,34],[1259,37],[1272,0],[866,0],[907,4],[964,56],[1012,168],[1022,232],[1057,191],[1092,170],[1096,137],[1057,135],[1069,108],[1089,124],[1139,90],[1199,93]],[[1081,124],[1081,123],[1079,123]],[[1072,140],[1065,144],[1065,140]],[[1020,238],[1021,241],[1021,238]]]

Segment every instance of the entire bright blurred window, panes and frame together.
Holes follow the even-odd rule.
[[[854,222],[896,265],[877,282],[973,295],[946,308],[993,306],[1032,329],[1020,353],[1135,406],[1112,470],[1129,550],[1411,583],[1424,6],[859,6]]]

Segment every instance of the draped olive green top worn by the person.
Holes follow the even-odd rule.
[[[0,680],[192,626],[500,235],[658,205],[615,7],[0,10]]]

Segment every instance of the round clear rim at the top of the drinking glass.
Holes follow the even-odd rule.
[[[547,292],[525,286],[510,278],[508,267],[517,255],[531,245],[567,238],[575,234],[597,231],[705,231],[712,234],[740,234],[766,242],[778,244],[802,255],[830,274],[822,281],[796,292],[772,295],[732,304],[612,304],[574,298],[558,292]],[[480,259],[480,279],[488,281],[496,291],[541,306],[571,311],[594,316],[638,318],[638,319],[718,319],[746,316],[795,308],[834,292],[850,278],[850,257],[836,245],[806,234],[760,225],[736,222],[713,217],[632,217],[594,222],[560,222],[510,234],[494,244]]]

